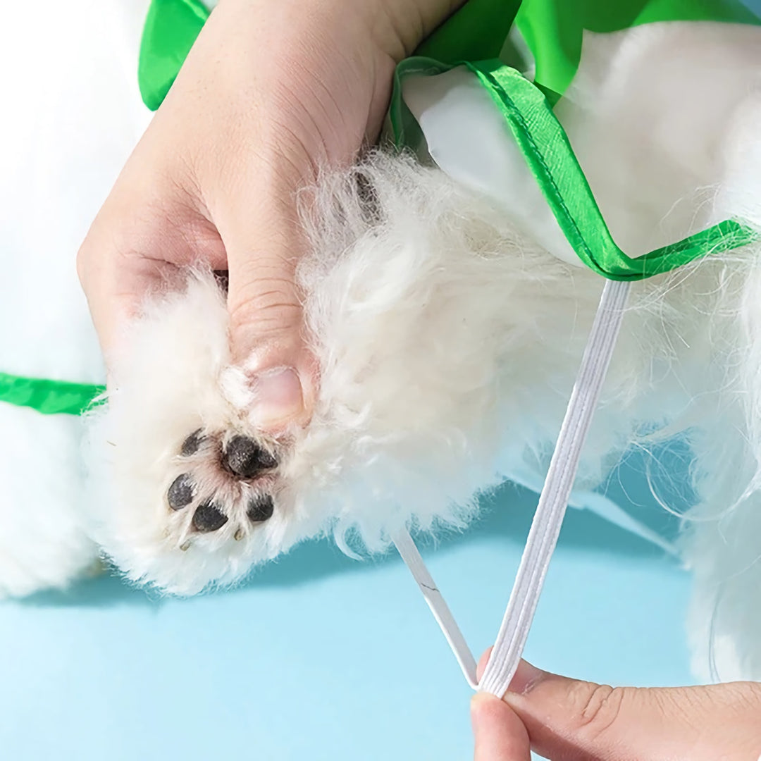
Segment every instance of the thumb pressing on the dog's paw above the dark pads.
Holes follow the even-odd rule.
[[[316,363],[304,343],[295,269],[306,247],[291,196],[260,193],[218,225],[228,255],[230,345],[253,422],[276,432],[308,422]]]

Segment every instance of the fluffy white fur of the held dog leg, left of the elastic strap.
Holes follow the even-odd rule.
[[[575,309],[562,294],[568,267],[517,240],[499,209],[438,171],[379,154],[362,173],[380,218],[368,215],[350,178],[319,190],[314,254],[299,277],[320,400],[310,425],[279,446],[275,515],[263,526],[231,520],[184,551],[190,515],[171,515],[166,533],[167,486],[189,466],[177,456],[183,439],[197,428],[257,435],[235,404],[247,399],[236,393],[245,379],[228,368],[227,313],[212,277],[197,273],[186,293],[151,304],[125,340],[98,435],[116,445],[113,494],[100,514],[110,521],[103,545],[132,578],[189,593],[231,581],[333,522],[339,532],[357,526],[378,546],[412,515],[425,528],[459,521],[473,493],[498,482],[516,417],[522,428],[535,425],[537,396],[519,379],[564,364],[541,337]],[[537,314],[535,291],[549,292],[549,282],[559,286],[555,306]],[[594,304],[600,282],[583,287]],[[568,346],[574,354],[583,337],[581,326]],[[565,365],[568,381],[573,361]],[[557,402],[560,411],[562,392]],[[204,467],[206,459],[199,454]],[[209,470],[202,492],[219,488]],[[246,536],[236,542],[240,527]]]

